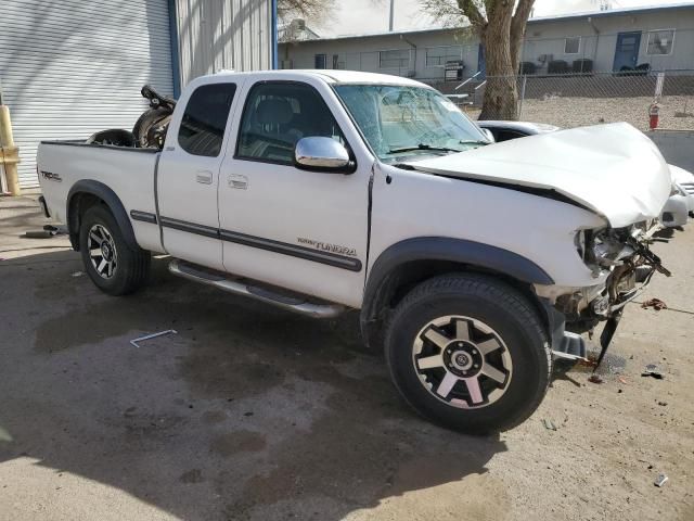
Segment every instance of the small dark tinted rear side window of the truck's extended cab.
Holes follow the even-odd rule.
[[[217,157],[234,99],[234,84],[203,85],[188,100],[178,143],[189,154]]]

